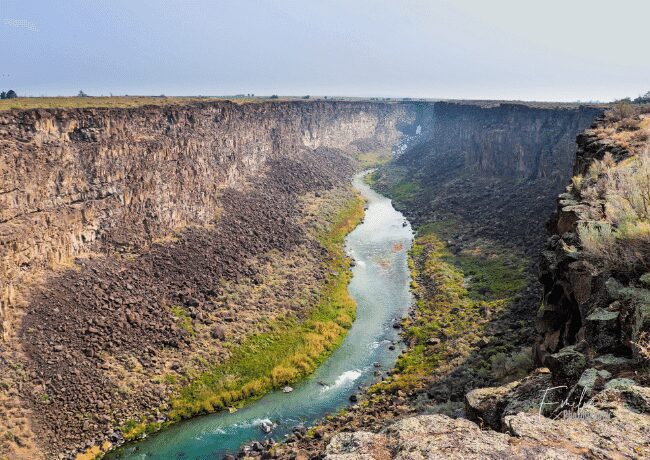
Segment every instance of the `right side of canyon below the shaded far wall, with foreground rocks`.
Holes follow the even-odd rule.
[[[379,168],[373,185],[420,224],[409,347],[358,404],[271,457],[646,458],[647,113],[596,114],[564,178],[523,172],[562,192],[555,206],[516,177],[467,180],[473,162],[434,143]],[[494,212],[503,232],[485,228]]]

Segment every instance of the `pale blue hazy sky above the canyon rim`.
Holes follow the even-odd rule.
[[[648,24],[648,0],[0,0],[0,88],[611,100],[650,90]]]

